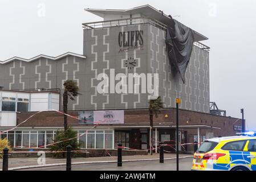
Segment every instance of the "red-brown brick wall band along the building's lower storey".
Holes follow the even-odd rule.
[[[32,114],[35,113],[18,113],[17,124],[25,121]],[[78,117],[78,111],[70,111],[68,114]],[[153,123],[159,131],[159,138],[162,134],[169,134],[170,140],[175,139],[175,126],[176,126],[176,109],[163,109],[157,118],[153,118]],[[79,125],[78,119],[68,117],[69,126],[88,126]],[[182,134],[181,143],[193,143],[194,136],[197,136],[197,127],[188,128],[193,125],[208,126],[208,129],[200,129],[200,135],[206,136],[206,133],[213,133],[214,137],[218,136],[231,136],[235,135],[238,131],[234,131],[234,125],[241,126],[242,121],[238,118],[222,117],[218,115],[198,113],[195,111],[179,110],[179,125]],[[90,125],[89,125],[90,126]],[[104,126],[104,125],[101,125]],[[106,126],[106,125],[105,125]],[[149,111],[148,110],[124,110],[124,124],[119,125],[107,125],[108,127],[117,127],[118,130],[122,130],[120,126],[131,126],[131,148],[140,149],[140,127],[149,126]],[[137,129],[132,128],[137,126]],[[161,128],[160,126],[166,126]],[[172,126],[172,128],[171,128]],[[188,126],[188,127],[186,127]],[[217,127],[216,128],[211,128]],[[27,122],[22,123],[19,127],[63,127],[63,114],[56,113],[54,111],[47,111],[36,114]],[[125,128],[126,130],[129,128]],[[135,139],[136,134],[136,139]],[[134,135],[134,136],[133,136]],[[139,138],[138,138],[139,137]],[[136,142],[135,142],[136,140]],[[172,143],[172,142],[171,142]],[[183,148],[183,147],[182,147]],[[173,148],[169,148],[173,149]],[[183,148],[184,149],[184,148]],[[193,145],[185,146],[187,151],[193,151]],[[166,148],[166,150],[168,150]],[[173,151],[173,150],[170,150]]]

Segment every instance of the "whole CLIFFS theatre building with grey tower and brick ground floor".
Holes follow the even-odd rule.
[[[82,55],[68,52],[0,62],[0,131],[9,130],[1,138],[7,137],[11,146],[47,148],[52,143],[56,131],[63,129],[58,111],[63,110],[66,80],[79,86],[79,96],[68,101],[68,125],[78,136],[87,131],[78,137],[82,148],[113,149],[117,143],[149,148],[148,102],[153,96],[164,102],[159,117],[153,118],[154,146],[174,143],[176,98],[181,98],[181,144],[241,130],[241,119],[210,114],[210,48],[202,43],[208,38],[149,5],[85,10],[103,20],[83,23]],[[180,57],[173,58],[172,39],[188,45],[190,53],[182,65]],[[179,149],[190,152],[193,145]],[[168,146],[165,150],[174,151]]]

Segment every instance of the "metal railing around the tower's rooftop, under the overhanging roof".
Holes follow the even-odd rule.
[[[105,20],[100,22],[83,23],[83,28],[84,29],[106,28],[106,27],[117,27],[117,26],[129,26],[129,25],[144,24],[144,23],[149,23],[152,26],[158,27],[164,31],[167,30],[167,26],[164,23],[161,23],[158,20],[148,18],[148,17],[113,19],[113,20]],[[193,44],[194,46],[204,49],[207,52],[210,51],[210,47],[200,42],[194,42]]]

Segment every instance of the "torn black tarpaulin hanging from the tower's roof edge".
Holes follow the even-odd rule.
[[[171,17],[170,19],[165,40],[168,57],[185,84],[185,72],[193,49],[194,34],[189,27]]]

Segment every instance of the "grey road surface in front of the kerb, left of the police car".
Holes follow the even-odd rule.
[[[190,171],[192,168],[192,156],[179,159],[180,171]],[[66,166],[40,167],[20,169],[18,171],[66,171]],[[176,171],[176,160],[146,160],[136,162],[123,162],[122,167],[116,163],[92,163],[72,165],[72,171]]]

